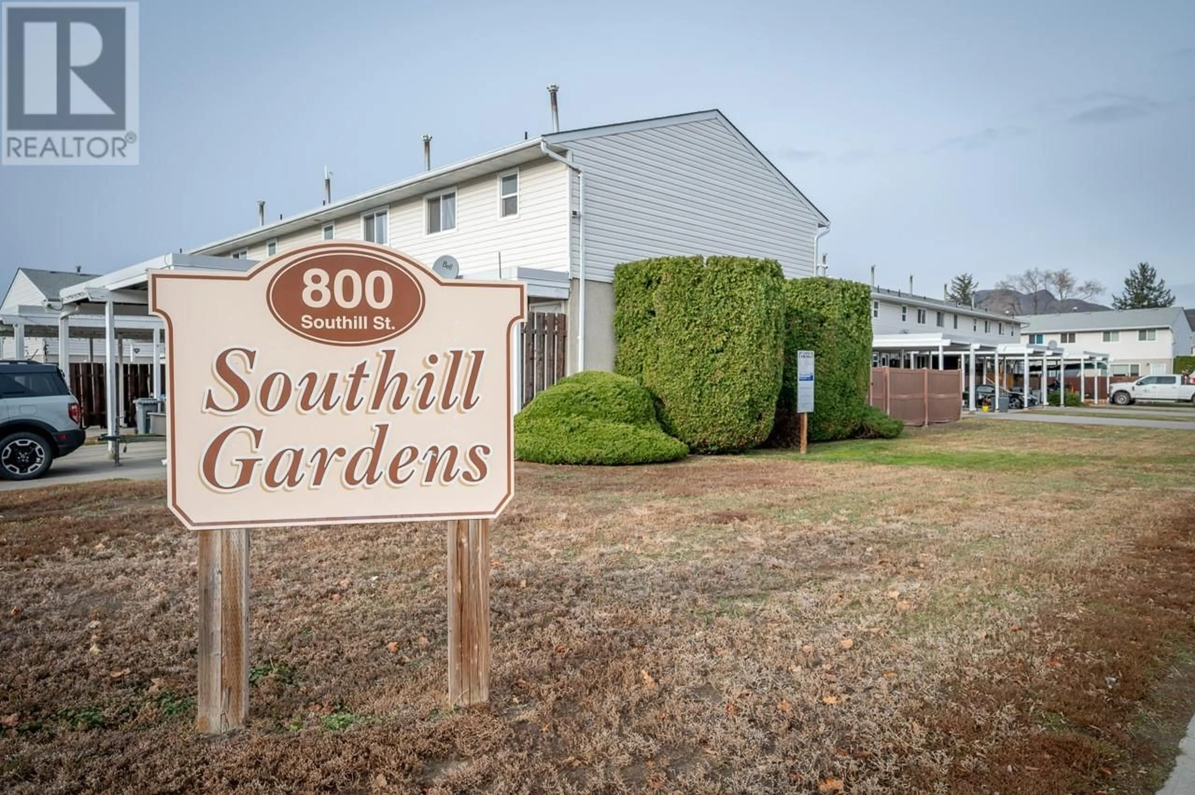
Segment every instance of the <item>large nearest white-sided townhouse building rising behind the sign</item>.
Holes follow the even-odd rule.
[[[813,276],[828,228],[710,110],[541,135],[190,253],[261,260],[323,240],[364,240],[428,265],[448,254],[462,277],[520,279],[532,312],[565,313],[566,370],[575,372],[613,369],[618,264],[730,254],[773,258],[789,277]]]

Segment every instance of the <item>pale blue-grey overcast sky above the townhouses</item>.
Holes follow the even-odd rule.
[[[1195,304],[1195,2],[141,2],[141,165],[0,168],[0,279],[105,272],[563,128],[718,107],[831,275],[1025,267]]]

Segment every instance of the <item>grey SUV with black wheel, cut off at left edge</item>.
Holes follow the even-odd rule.
[[[82,411],[53,364],[0,360],[0,479],[33,480],[86,439]]]

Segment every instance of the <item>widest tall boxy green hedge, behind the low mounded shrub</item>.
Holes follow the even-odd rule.
[[[694,452],[772,431],[783,368],[784,272],[771,259],[670,257],[614,271],[615,370],[655,396]]]

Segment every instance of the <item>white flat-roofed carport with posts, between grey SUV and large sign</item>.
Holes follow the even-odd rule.
[[[228,259],[226,257],[208,257],[202,254],[164,254],[154,259],[122,267],[63,288],[59,297],[61,310],[57,319],[56,335],[59,338],[60,360],[68,355],[72,335],[81,337],[88,332],[96,333],[91,319],[103,318],[98,334],[104,339],[104,413],[108,418],[108,436],[120,433],[120,378],[117,363],[117,331],[125,339],[149,341],[153,346],[153,394],[161,394],[161,375],[157,366],[163,321],[149,314],[149,272],[151,271],[234,271],[244,272],[257,263],[249,259]],[[219,307],[212,307],[213,322],[228,322],[220,314]],[[67,356],[67,359],[69,357]],[[109,449],[115,450],[116,443],[109,442]]]

